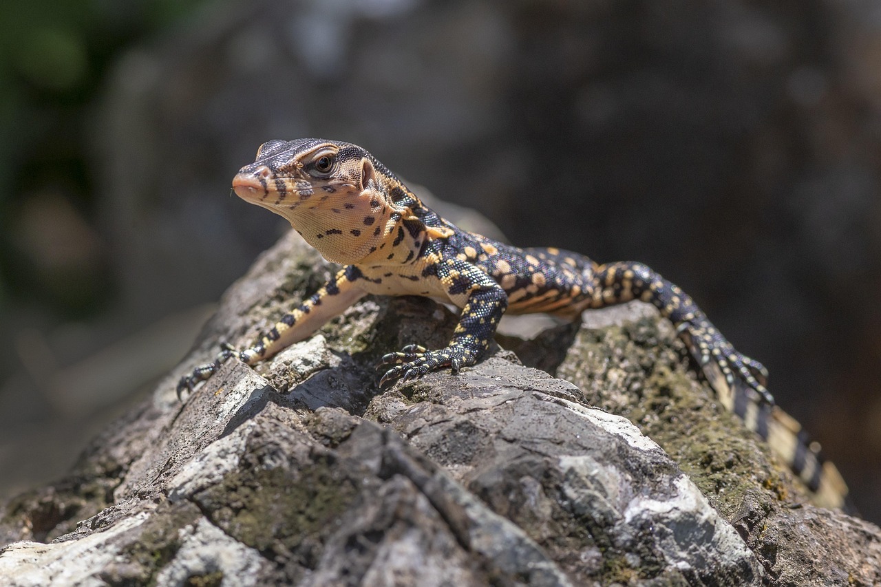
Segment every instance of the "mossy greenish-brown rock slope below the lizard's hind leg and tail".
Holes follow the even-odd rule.
[[[728,519],[751,490],[806,499],[766,444],[698,382],[685,346],[658,318],[582,328],[557,375],[658,442]]]

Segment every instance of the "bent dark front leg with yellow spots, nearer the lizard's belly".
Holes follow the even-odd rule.
[[[400,353],[386,354],[379,368],[394,367],[382,375],[380,387],[398,378],[403,382],[443,367],[451,367],[455,373],[477,363],[489,348],[507,309],[505,290],[483,271],[463,262],[456,262],[452,267],[444,264],[438,277],[447,286],[451,300],[468,296],[452,340],[439,350],[429,351],[423,346],[409,345]]]

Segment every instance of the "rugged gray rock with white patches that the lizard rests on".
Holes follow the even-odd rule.
[[[496,348],[381,392],[378,356],[442,345],[455,316],[368,298],[178,403],[218,338],[247,343],[332,269],[296,234],[267,251],[148,402],[0,510],[0,584],[881,581],[881,531],[813,508],[638,304],[503,340],[569,381]]]

